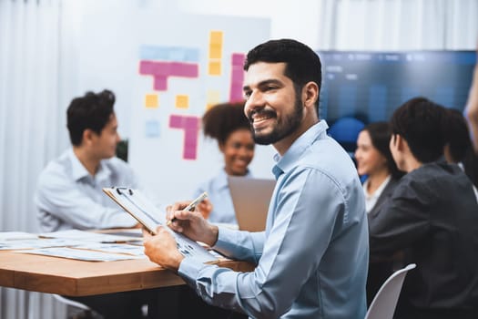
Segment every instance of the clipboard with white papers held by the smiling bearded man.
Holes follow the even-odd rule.
[[[218,258],[198,242],[191,241],[182,233],[172,231],[166,225],[166,212],[159,210],[141,190],[129,189],[127,187],[104,188],[107,196],[115,201],[123,210],[127,211],[147,232],[156,234],[158,225],[164,226],[176,239],[178,251],[186,258],[195,258],[200,262],[219,262]]]

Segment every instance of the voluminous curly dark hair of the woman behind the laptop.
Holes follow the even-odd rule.
[[[217,139],[224,144],[229,135],[238,129],[249,129],[249,119],[244,114],[244,102],[218,104],[202,117],[202,129],[205,136]]]

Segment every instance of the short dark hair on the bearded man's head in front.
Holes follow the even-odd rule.
[[[291,39],[270,40],[254,47],[248,53],[244,62],[244,70],[257,62],[280,63],[286,68],[284,75],[294,83],[296,95],[307,82],[313,81],[319,87],[322,82],[320,57],[309,47]],[[319,115],[319,98],[315,108]]]

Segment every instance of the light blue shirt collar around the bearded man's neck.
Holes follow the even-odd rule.
[[[276,165],[272,168],[272,173],[276,177],[276,180],[279,178],[280,174],[293,168],[295,161],[316,139],[322,139],[325,137],[327,129],[329,129],[327,122],[325,119],[321,119],[319,123],[312,125],[300,135],[283,156],[276,153],[274,155]]]

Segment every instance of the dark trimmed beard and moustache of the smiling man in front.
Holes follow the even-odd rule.
[[[271,115],[270,118],[276,118],[276,126],[269,134],[256,134],[256,131],[252,126],[252,120],[249,118],[249,120],[251,121],[252,136],[257,144],[269,145],[280,141],[280,139],[288,137],[292,132],[294,132],[300,127],[300,122],[302,121],[304,109],[302,107],[300,97],[296,96],[292,113],[287,114],[285,118],[278,119],[277,113],[273,111],[261,109],[258,111],[258,113],[260,114],[260,112],[268,112]]]

